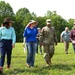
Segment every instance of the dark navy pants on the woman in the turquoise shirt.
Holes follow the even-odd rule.
[[[1,40],[0,41],[0,67],[4,66],[5,54],[7,54],[7,65],[11,64],[11,54],[12,54],[12,40]]]

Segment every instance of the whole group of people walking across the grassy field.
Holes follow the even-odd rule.
[[[7,17],[4,19],[2,27],[0,27],[0,73],[3,72],[6,54],[7,68],[10,68],[11,64],[12,48],[15,47],[16,42],[16,34],[14,28],[12,27],[12,23],[13,21],[11,18]],[[51,19],[47,19],[46,26],[40,30],[37,28],[38,22],[30,20],[25,27],[23,37],[27,49],[27,67],[34,67],[35,53],[38,53],[38,43],[40,44],[41,54],[41,46],[43,45],[46,66],[51,65],[51,58],[53,57],[55,51],[54,45],[57,45],[58,43],[55,28],[51,24]],[[68,27],[65,28],[65,31],[61,33],[61,39],[64,41],[66,54],[68,54],[69,41],[72,41],[75,52],[75,24],[71,32],[68,30]]]

